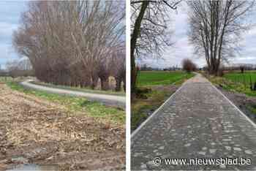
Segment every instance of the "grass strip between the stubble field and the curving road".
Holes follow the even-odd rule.
[[[125,113],[123,110],[118,110],[114,107],[106,107],[98,102],[90,102],[83,97],[63,96],[59,94],[49,94],[45,91],[34,91],[23,88],[23,86],[18,84],[18,82],[7,82],[7,86],[16,91],[37,96],[39,98],[49,100],[50,102],[55,102],[56,104],[64,105],[71,113],[80,111],[88,113],[91,117],[110,121],[111,123],[125,123]]]

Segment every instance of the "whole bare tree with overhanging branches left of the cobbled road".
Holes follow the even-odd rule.
[[[168,10],[176,9],[180,1],[132,0],[131,15],[131,91],[136,89],[137,69],[135,59],[147,53],[161,54],[163,47],[171,45],[167,29]]]

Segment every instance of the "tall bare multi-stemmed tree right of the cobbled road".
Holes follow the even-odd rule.
[[[188,1],[189,41],[205,56],[210,74],[217,75],[222,61],[238,52],[238,40],[250,28],[246,22],[255,1]]]

